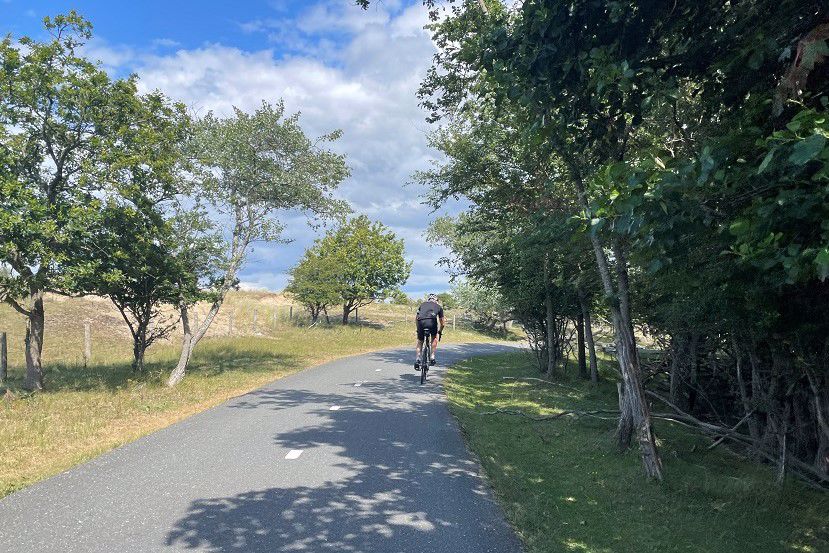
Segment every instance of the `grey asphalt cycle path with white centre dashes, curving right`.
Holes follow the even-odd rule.
[[[421,386],[412,358],[308,369],[12,494],[0,551],[520,552],[449,414],[445,369]]]

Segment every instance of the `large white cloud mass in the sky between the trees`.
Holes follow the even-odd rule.
[[[241,24],[244,32],[270,36],[272,49],[206,44],[135,58],[130,49],[99,43],[92,51],[107,65],[129,61],[142,90],[160,89],[200,113],[227,114],[233,106],[252,110],[262,100],[282,98],[288,110],[302,112],[309,134],[342,129],[334,147],[346,154],[352,177],[338,194],[356,212],[393,225],[406,240],[415,260],[408,289],[442,289],[447,277],[434,266],[439,255],[422,244],[428,209],[420,205],[421,191],[405,186],[435,156],[415,96],[434,54],[423,29],[428,17],[419,2],[407,8],[388,0],[375,6],[362,11],[351,0],[325,1],[293,21]],[[284,285],[287,269],[314,238],[299,219],[287,227],[296,242],[258,247],[242,275],[245,282]]]

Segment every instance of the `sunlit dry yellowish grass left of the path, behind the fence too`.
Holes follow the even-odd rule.
[[[146,371],[136,374],[130,370],[125,324],[107,302],[50,297],[46,390],[37,394],[21,389],[25,321],[0,306],[0,331],[9,333],[11,361],[9,380],[0,386],[0,497],[311,365],[386,347],[414,347],[411,318],[407,322],[405,311],[395,306],[361,310],[367,318],[361,326],[308,328],[307,322],[288,321],[289,306],[278,304],[280,299],[232,294],[198,345],[187,376],[170,389],[164,383],[178,358],[178,336],[151,348]],[[294,312],[300,314],[298,308]],[[230,313],[234,335],[227,336]],[[85,321],[93,335],[88,368],[81,364]],[[445,339],[488,340],[461,328]]]

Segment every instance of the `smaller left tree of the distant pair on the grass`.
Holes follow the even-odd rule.
[[[339,276],[337,260],[323,256],[317,243],[306,250],[299,263],[291,269],[291,282],[285,291],[308,309],[312,324],[317,322],[320,313],[324,313],[325,321],[330,323],[328,306],[340,301],[337,288]]]

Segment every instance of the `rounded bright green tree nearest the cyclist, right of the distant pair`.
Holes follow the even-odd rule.
[[[412,264],[403,252],[402,239],[365,215],[343,223],[319,242],[320,256],[337,267],[343,324],[355,309],[388,297],[406,282]]]

